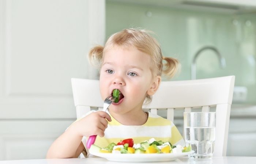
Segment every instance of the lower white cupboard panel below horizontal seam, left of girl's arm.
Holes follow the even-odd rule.
[[[0,160],[44,159],[52,142],[74,122],[60,120],[0,120]]]

